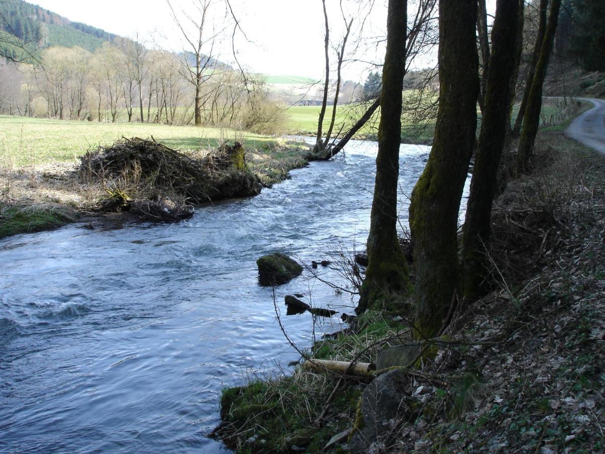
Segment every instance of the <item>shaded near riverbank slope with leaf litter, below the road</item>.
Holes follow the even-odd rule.
[[[492,291],[396,372],[405,409],[367,419],[367,380],[296,366],[224,390],[215,435],[236,452],[603,449],[605,162],[557,129],[496,204]],[[305,354],[376,363],[413,344],[406,315],[369,312]]]

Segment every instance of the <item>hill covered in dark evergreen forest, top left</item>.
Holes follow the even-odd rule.
[[[38,42],[39,48],[80,46],[90,51],[100,47],[104,41],[113,41],[117,35],[100,28],[59,16],[38,5],[23,0],[0,2],[0,32],[14,35],[24,42]],[[8,46],[7,54],[18,56],[18,49]]]

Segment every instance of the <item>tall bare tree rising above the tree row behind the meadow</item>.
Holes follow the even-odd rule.
[[[197,10],[197,18],[181,10],[180,15],[177,15],[172,2],[166,0],[166,3],[170,7],[172,13],[172,19],[183,35],[183,39],[187,46],[183,48],[183,64],[181,65],[181,74],[185,77],[195,88],[195,104],[194,104],[194,116],[195,125],[201,126],[201,108],[202,108],[202,86],[212,72],[208,71],[214,67],[214,58],[212,57],[214,51],[215,35],[209,34],[208,30],[208,15],[209,8],[211,7],[212,0],[191,0],[191,4]],[[188,31],[186,31],[186,23],[189,22],[196,31],[195,38],[191,38]],[[204,48],[209,47],[208,52],[204,53]],[[191,66],[189,64],[188,56],[195,58],[195,64]]]

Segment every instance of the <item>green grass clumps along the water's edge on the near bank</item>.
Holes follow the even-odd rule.
[[[356,326],[336,338],[316,342],[306,353],[325,360],[373,361],[378,351],[389,345],[385,339],[403,335],[404,327],[376,311],[361,315]],[[337,445],[329,450],[324,446],[333,435],[355,423],[362,386],[348,381],[322,413],[337,383],[336,375],[296,366],[292,375],[256,379],[246,386],[224,389],[223,424],[215,435],[236,452],[292,452],[296,446],[306,447],[307,452],[338,452]]]

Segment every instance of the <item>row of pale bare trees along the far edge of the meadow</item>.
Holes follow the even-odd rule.
[[[208,57],[204,68],[191,70],[177,54],[149,49],[138,39],[106,42],[94,53],[80,47],[52,47],[42,51],[39,64],[9,64],[1,69],[5,77],[0,81],[0,113],[4,114],[246,125],[266,132],[273,132],[269,125],[279,123],[283,115],[263,81],[219,66]],[[199,83],[197,74],[201,74]]]

